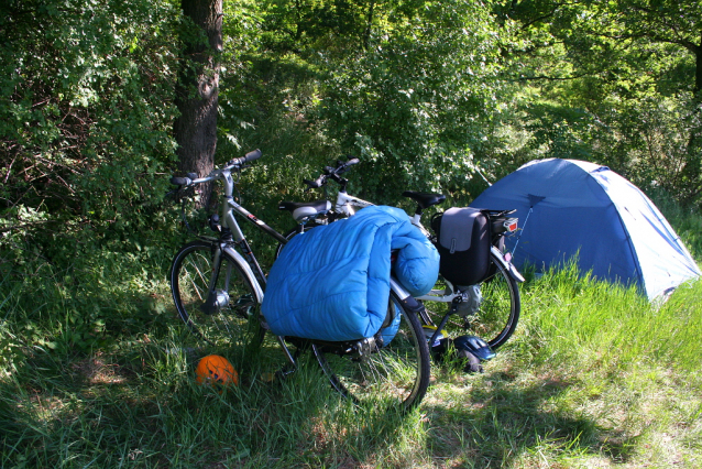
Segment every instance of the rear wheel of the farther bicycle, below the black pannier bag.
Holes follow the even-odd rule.
[[[517,281],[509,275],[496,254],[491,251],[491,276],[480,284],[482,301],[480,307],[465,318],[452,316],[445,330],[449,336],[471,334],[485,340],[493,350],[498,349],[512,337],[522,309],[522,299]],[[440,288],[440,283],[437,287]],[[450,303],[425,299],[428,317],[436,325],[448,312]],[[428,319],[428,318],[427,318]],[[428,320],[425,319],[425,323]]]

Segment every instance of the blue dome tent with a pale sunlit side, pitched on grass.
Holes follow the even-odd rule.
[[[481,194],[472,207],[515,208],[520,231],[506,239],[514,264],[561,265],[635,283],[654,299],[700,276],[700,268],[654,203],[606,166],[537,160]]]

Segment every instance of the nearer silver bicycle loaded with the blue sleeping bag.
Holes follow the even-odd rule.
[[[266,276],[237,221],[237,216],[273,237],[284,236],[256,218],[233,198],[232,173],[261,157],[256,150],[229,161],[205,177],[189,174],[172,177],[184,200],[201,183],[223,183],[221,216],[209,217],[216,236],[197,236],[175,254],[168,274],[173,301],[180,318],[197,336],[218,348],[261,345],[268,327],[260,313]],[[301,227],[326,212],[330,206],[319,203],[290,204],[286,207]],[[184,211],[185,217],[185,211]],[[186,221],[187,222],[187,221]],[[297,369],[299,356],[309,350],[325,375],[344,397],[357,403],[390,400],[404,408],[419,404],[429,384],[430,361],[418,315],[423,306],[394,279],[391,279],[388,312],[401,312],[399,330],[385,346],[375,337],[329,342],[296,337],[276,337],[287,366],[285,377]],[[290,350],[290,347],[294,350]]]

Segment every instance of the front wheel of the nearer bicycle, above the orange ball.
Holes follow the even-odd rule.
[[[184,246],[173,259],[171,291],[178,315],[196,336],[215,347],[234,347],[263,340],[261,294],[241,261],[222,251],[215,283],[217,306],[210,314],[201,309],[213,272],[213,247],[204,241]]]

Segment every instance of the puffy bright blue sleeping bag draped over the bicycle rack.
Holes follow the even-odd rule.
[[[319,340],[372,337],[383,325],[392,265],[413,295],[429,292],[439,254],[403,210],[368,207],[294,237],[273,264],[262,312],[276,336]]]

